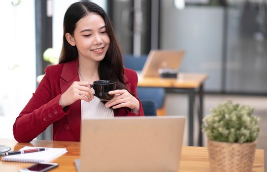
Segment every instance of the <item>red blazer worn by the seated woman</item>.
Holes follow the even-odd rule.
[[[78,60],[48,66],[45,76],[38,85],[33,97],[16,118],[13,125],[14,138],[20,142],[31,142],[50,124],[53,124],[53,140],[80,141],[81,101],[65,107],[59,105],[62,93],[74,82],[79,81]],[[124,69],[125,84],[137,98],[137,74],[131,69]],[[138,99],[140,102],[140,100]],[[114,110],[114,116],[135,116],[129,108]],[[143,116],[140,103],[139,116]]]

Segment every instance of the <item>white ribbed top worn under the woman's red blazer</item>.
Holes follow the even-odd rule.
[[[106,108],[96,96],[90,102],[81,100],[81,112],[82,119],[114,117],[113,110]]]

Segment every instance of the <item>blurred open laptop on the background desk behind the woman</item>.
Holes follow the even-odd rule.
[[[151,50],[141,71],[141,77],[160,77],[160,68],[171,68],[178,70],[184,51],[175,50]]]

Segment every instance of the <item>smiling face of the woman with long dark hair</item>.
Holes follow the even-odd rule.
[[[76,23],[72,39],[79,58],[93,61],[101,61],[105,57],[110,42],[104,20],[94,13],[89,13]]]

